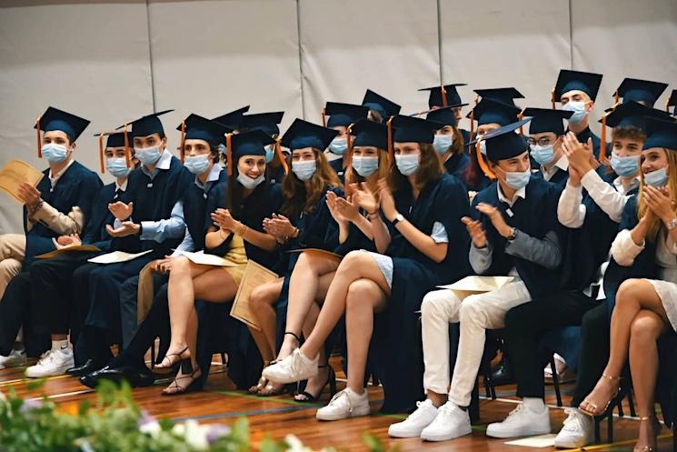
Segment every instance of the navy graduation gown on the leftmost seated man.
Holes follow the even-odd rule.
[[[87,167],[74,161],[64,174],[56,182],[54,188],[49,181],[49,168],[43,171],[45,177],[37,185],[43,200],[53,206],[62,214],[67,215],[75,206],[80,207],[85,215],[85,229],[89,217],[92,215],[92,203],[95,195],[101,190],[103,183],[99,176]],[[33,262],[35,256],[48,253],[55,249],[52,238],[59,234],[42,223],[35,223],[28,230],[28,211],[24,206],[24,231],[25,231],[25,259],[24,271]]]

